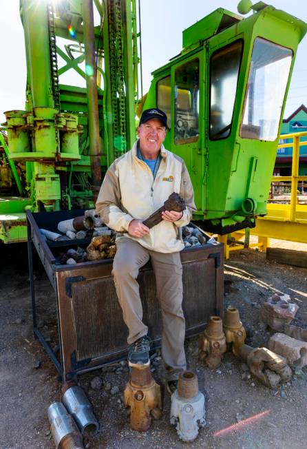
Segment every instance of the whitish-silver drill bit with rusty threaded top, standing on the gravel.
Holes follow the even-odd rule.
[[[198,436],[198,426],[204,427],[204,395],[198,390],[198,377],[193,371],[180,373],[178,389],[171,395],[171,424],[183,441]]]

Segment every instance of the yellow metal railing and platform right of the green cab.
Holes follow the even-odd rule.
[[[280,138],[292,138],[293,143],[282,143],[278,148],[293,147],[292,173],[291,176],[273,176],[272,182],[291,182],[290,204],[268,204],[267,215],[256,220],[256,227],[248,229],[248,233],[258,236],[258,243],[250,244],[250,247],[260,247],[264,251],[269,246],[269,239],[290,240],[294,242],[307,243],[307,205],[297,204],[297,183],[307,181],[307,176],[299,176],[299,148],[307,145],[307,142],[300,142],[301,137],[307,136],[307,132],[297,132],[292,134],[282,134]],[[242,242],[229,241],[242,239],[245,230],[236,231],[231,236],[218,236],[218,240],[223,242],[225,258],[229,258],[229,251],[244,249]],[[229,238],[231,237],[231,239]],[[247,240],[247,239],[245,239]]]

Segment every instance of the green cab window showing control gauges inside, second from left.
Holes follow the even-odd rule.
[[[175,72],[175,126],[177,145],[198,140],[199,59],[181,65]]]

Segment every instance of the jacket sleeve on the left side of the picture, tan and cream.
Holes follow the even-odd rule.
[[[120,202],[120,185],[116,160],[109,167],[100,187],[96,201],[96,211],[105,225],[117,232],[127,232],[133,217],[123,210]]]

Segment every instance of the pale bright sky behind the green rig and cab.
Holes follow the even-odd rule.
[[[140,0],[143,92],[149,89],[151,72],[181,51],[182,30],[217,8],[237,13],[237,3],[237,0]],[[253,3],[257,3],[257,0]],[[270,4],[307,22],[307,8],[301,0],[272,0]],[[5,121],[4,111],[24,108],[26,69],[19,0],[0,0],[0,8],[2,123]],[[302,103],[307,106],[306,55],[307,36],[301,41],[297,51],[284,118]],[[66,81],[60,79],[60,83],[64,82]]]

